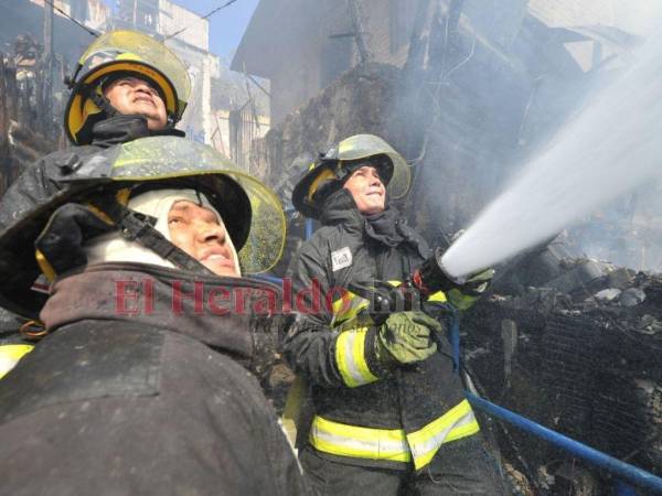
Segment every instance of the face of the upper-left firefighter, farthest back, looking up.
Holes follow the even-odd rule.
[[[152,131],[163,129],[168,122],[166,104],[159,91],[146,80],[122,77],[104,88],[104,96],[120,114],[146,117],[147,127]]]

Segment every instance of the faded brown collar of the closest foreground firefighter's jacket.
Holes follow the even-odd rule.
[[[273,317],[279,301],[278,287],[257,279],[99,263],[57,279],[40,317],[49,332],[84,320],[148,325],[250,358],[252,330]]]

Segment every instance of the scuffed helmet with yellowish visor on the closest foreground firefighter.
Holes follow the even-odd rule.
[[[0,305],[34,317],[44,298],[31,291],[41,270],[34,240],[55,209],[120,190],[185,182],[218,211],[239,252],[245,273],[274,267],[285,245],[285,214],[278,197],[221,153],[174,137],[143,138],[87,158],[72,170],[41,161],[8,190],[0,206]],[[100,193],[99,193],[100,192]]]

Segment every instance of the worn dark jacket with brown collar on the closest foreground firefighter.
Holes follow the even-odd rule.
[[[57,280],[50,334],[0,380],[0,494],[309,494],[239,365],[273,356],[264,291],[138,263]]]

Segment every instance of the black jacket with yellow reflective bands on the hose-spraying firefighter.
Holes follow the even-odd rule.
[[[323,226],[291,268],[300,313],[289,325],[285,353],[310,385],[316,416],[309,442],[321,455],[420,470],[442,443],[476,434],[479,425],[446,336],[437,336],[440,351],[433,357],[384,369],[374,351],[376,327],[359,323],[361,300],[343,291],[353,283],[402,281],[428,256],[424,239],[391,214],[396,246],[374,230],[345,190],[327,201]]]

